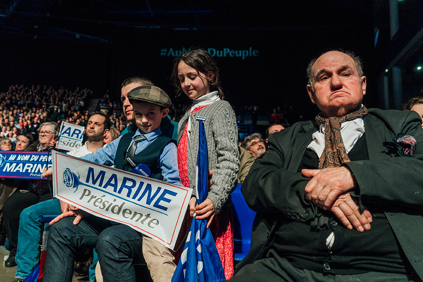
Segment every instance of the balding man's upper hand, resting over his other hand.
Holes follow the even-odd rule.
[[[340,194],[357,185],[347,167],[303,169],[301,173],[311,177],[305,188],[306,199],[324,210],[329,210]]]

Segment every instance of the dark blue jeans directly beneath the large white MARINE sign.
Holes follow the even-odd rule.
[[[136,280],[132,264],[144,262],[140,233],[93,216],[78,225],[73,220],[64,218],[50,229],[43,282],[72,281],[75,253],[81,247],[96,248],[105,282]]]

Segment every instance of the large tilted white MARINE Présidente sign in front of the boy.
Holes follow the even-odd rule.
[[[53,151],[54,196],[173,249],[192,189]]]

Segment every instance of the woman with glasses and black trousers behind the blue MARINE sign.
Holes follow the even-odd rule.
[[[59,125],[55,122],[44,122],[40,125],[38,141],[27,147],[26,151],[46,152],[56,146],[59,134]],[[35,203],[51,199],[48,180],[26,181],[5,202],[3,214],[6,234],[9,238],[9,258],[5,261],[6,267],[16,266],[15,255],[18,246],[19,219],[24,208]]]

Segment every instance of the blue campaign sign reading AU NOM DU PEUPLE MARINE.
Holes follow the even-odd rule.
[[[42,179],[44,168],[51,167],[51,153],[0,151],[0,177]]]

